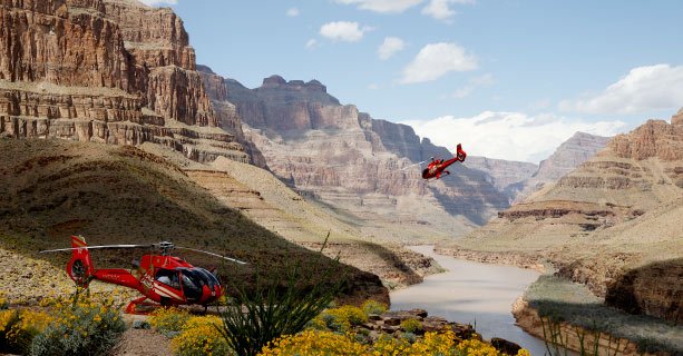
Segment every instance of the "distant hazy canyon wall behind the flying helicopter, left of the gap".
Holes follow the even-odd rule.
[[[272,76],[253,90],[224,82],[245,135],[275,175],[363,221],[369,235],[451,237],[507,207],[480,172],[461,165],[446,179],[423,181],[414,164],[435,151],[450,157],[447,149],[421,142],[408,126],[341,105],[316,80]]]

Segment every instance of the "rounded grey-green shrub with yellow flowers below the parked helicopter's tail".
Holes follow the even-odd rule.
[[[56,305],[55,319],[31,343],[31,355],[105,355],[125,330],[111,299],[97,301],[77,291]]]

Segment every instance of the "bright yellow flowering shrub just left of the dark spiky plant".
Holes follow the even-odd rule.
[[[173,338],[170,347],[176,355],[203,356],[228,355],[231,349],[218,332],[223,320],[217,316],[195,316],[187,319],[179,335]]]

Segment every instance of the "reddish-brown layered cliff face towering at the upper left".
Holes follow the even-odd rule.
[[[150,141],[246,161],[194,70],[182,21],[128,0],[3,0],[0,135]]]

